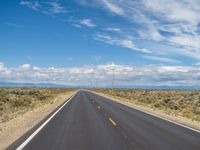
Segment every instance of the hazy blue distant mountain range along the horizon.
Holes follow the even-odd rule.
[[[17,82],[3,82],[3,81],[0,81],[0,87],[90,88],[88,86],[70,86],[70,85],[61,85],[52,83],[17,83]],[[112,86],[104,86],[98,88],[112,88]],[[115,88],[200,90],[200,86],[115,86]]]

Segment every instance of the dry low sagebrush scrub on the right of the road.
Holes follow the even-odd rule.
[[[151,107],[166,114],[200,121],[200,91],[197,90],[134,90],[92,89],[128,103]]]

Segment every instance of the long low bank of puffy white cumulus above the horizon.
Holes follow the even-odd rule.
[[[198,66],[118,65],[107,63],[82,67],[37,67],[30,64],[6,67],[0,63],[0,81],[91,85],[98,80],[102,86],[195,86],[200,84]]]

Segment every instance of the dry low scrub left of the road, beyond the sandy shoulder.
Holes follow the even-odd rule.
[[[0,88],[0,123],[46,103],[73,88]]]

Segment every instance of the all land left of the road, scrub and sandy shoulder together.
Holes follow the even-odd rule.
[[[74,88],[0,88],[0,149],[19,137],[64,103]]]

